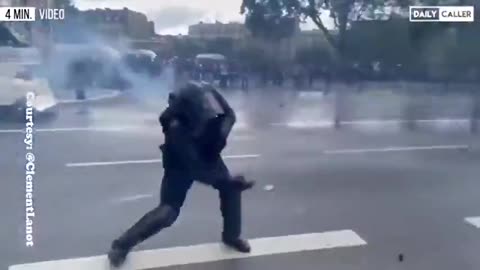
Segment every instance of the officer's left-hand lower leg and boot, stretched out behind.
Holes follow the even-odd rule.
[[[128,252],[137,244],[145,241],[160,230],[170,227],[179,214],[179,209],[167,204],[161,204],[145,214],[137,223],[122,236],[114,240],[108,254],[114,267],[118,267],[126,259]]]

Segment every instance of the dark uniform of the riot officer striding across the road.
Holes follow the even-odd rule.
[[[198,86],[188,87],[199,90]],[[164,167],[160,204],[112,243],[109,258],[114,266],[120,265],[135,245],[175,222],[194,180],[219,192],[223,241],[239,251],[250,251],[248,243],[240,239],[242,189],[234,184],[220,154],[235,123],[235,113],[215,89],[203,87],[202,90],[215,97],[223,112],[220,116],[209,117],[204,111],[203,115],[207,116],[203,119],[198,111],[188,112],[186,108],[195,106],[182,97],[184,93],[192,97],[195,91],[193,94],[180,93],[171,100],[159,119],[165,134],[165,143],[160,146]],[[198,101],[198,97],[195,100]]]

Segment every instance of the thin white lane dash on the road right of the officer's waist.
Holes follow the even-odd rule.
[[[406,152],[406,151],[428,151],[428,150],[461,150],[469,149],[468,145],[432,145],[432,146],[404,146],[404,147],[385,147],[385,148],[365,148],[365,149],[339,149],[323,151],[326,155],[338,154],[363,154],[363,153],[382,153],[382,152]]]

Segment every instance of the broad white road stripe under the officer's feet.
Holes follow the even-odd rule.
[[[156,269],[178,265],[199,264],[230,259],[275,254],[357,247],[366,245],[352,230],[331,231],[280,237],[257,238],[250,241],[251,253],[238,253],[219,243],[132,252],[122,269]],[[105,255],[32,264],[13,265],[9,270],[103,270],[109,269]]]

